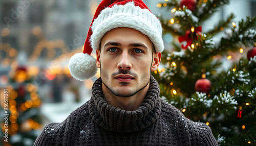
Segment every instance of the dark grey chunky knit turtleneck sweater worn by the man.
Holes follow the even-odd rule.
[[[34,145],[218,145],[207,125],[187,119],[159,98],[152,76],[146,98],[135,111],[108,104],[101,85],[99,78],[91,100],[62,123],[47,125]]]

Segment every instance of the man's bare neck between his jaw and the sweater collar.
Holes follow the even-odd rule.
[[[113,107],[120,108],[122,110],[134,111],[143,103],[149,87],[150,84],[147,84],[145,88],[133,96],[116,96],[104,84],[102,84],[102,91],[104,99]]]

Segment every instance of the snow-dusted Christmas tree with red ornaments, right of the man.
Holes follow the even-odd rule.
[[[236,24],[230,14],[212,25],[212,30],[204,32],[202,27],[227,4],[228,0],[165,0],[158,4],[173,13],[170,19],[158,17],[164,34],[172,34],[174,39],[172,48],[162,53],[163,68],[153,76],[161,98],[191,120],[206,123],[219,145],[254,145],[256,16]],[[221,33],[221,39],[214,41]],[[247,58],[240,57],[224,69],[223,58],[236,57],[248,48]]]

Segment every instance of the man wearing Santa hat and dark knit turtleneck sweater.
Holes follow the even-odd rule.
[[[100,68],[92,98],[62,123],[47,125],[34,145],[218,145],[207,125],[159,98],[150,74],[161,60],[161,35],[160,21],[141,0],[103,0],[83,53],[69,62],[77,80]]]

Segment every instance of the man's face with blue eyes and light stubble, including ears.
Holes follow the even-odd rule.
[[[132,96],[147,86],[151,70],[157,69],[159,57],[151,40],[130,28],[106,33],[97,50],[97,66],[103,84],[116,96]],[[160,53],[161,58],[161,53]],[[154,65],[157,62],[157,67]]]

